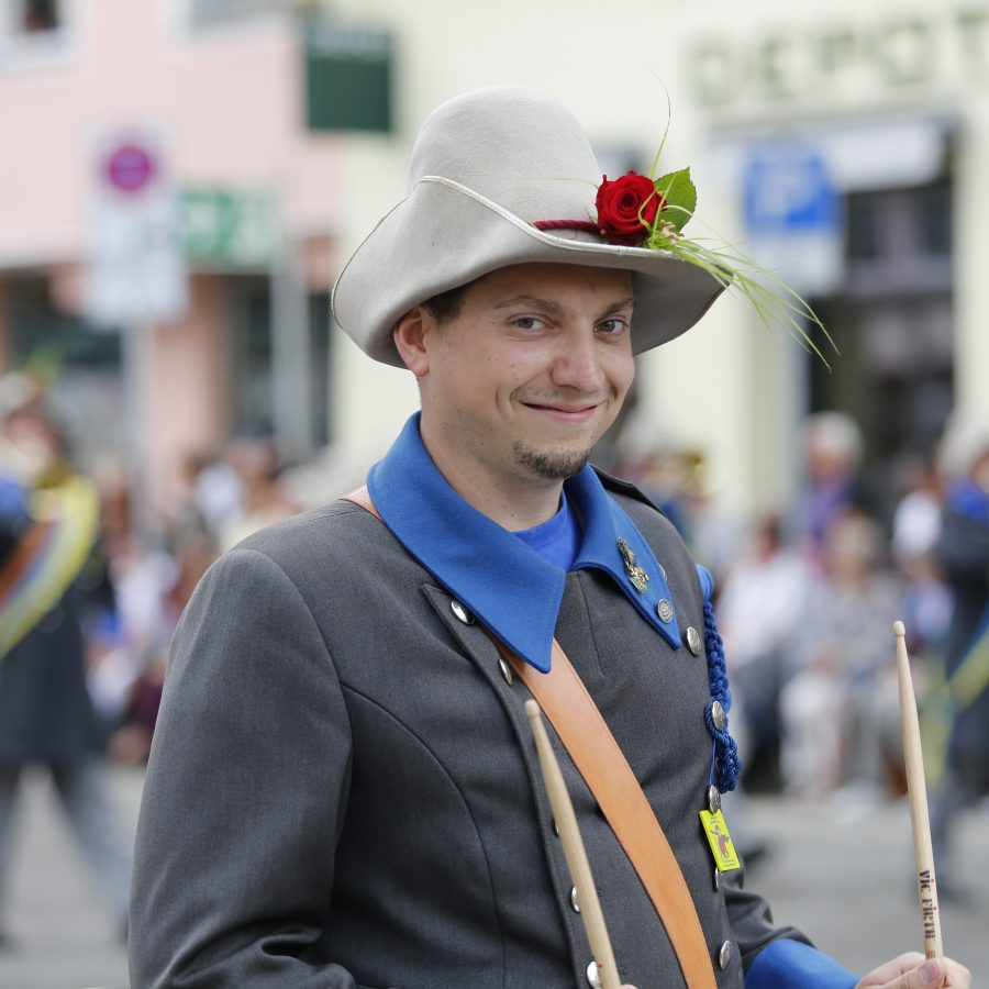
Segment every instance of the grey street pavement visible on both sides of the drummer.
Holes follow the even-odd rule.
[[[133,834],[142,775],[116,769],[113,782]],[[121,989],[127,967],[120,932],[93,897],[47,778],[37,773],[29,784],[9,903],[18,947],[0,952],[0,989]],[[744,833],[746,841],[766,843],[748,886],[769,899],[777,921],[805,931],[856,971],[922,949],[904,800],[876,807],[781,798],[734,801],[726,799],[725,813],[735,837],[741,843]],[[989,810],[969,811],[959,820],[958,852],[967,864],[959,873],[985,876],[987,849]],[[975,902],[964,908],[942,903],[942,933],[946,951],[973,969],[978,986],[989,970],[989,891],[981,887],[974,893]]]

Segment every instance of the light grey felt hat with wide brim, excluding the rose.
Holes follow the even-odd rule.
[[[533,225],[594,220],[601,179],[576,118],[541,90],[494,86],[444,103],[419,133],[408,196],[336,280],[336,322],[366,354],[403,367],[392,330],[412,307],[496,268],[552,262],[632,273],[636,354],[679,336],[722,291],[708,271],[664,251]]]

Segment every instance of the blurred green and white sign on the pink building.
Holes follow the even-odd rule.
[[[267,192],[186,188],[181,227],[186,257],[193,263],[266,268],[276,253],[275,202]]]

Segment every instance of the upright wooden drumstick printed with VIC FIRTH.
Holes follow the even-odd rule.
[[[921,754],[916,699],[907,657],[907,630],[893,623],[897,640],[897,670],[900,676],[900,724],[903,729],[903,755],[907,759],[907,792],[910,796],[910,821],[913,825],[913,854],[916,858],[916,891],[920,898],[921,924],[924,929],[924,954],[941,958],[941,915],[937,912],[937,885],[934,881],[934,852],[931,847],[931,823],[927,820],[927,787]]]

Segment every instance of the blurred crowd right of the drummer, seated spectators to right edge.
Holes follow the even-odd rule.
[[[737,524],[703,459],[660,443],[618,466],[715,571],[749,792],[826,801],[836,820],[905,790],[894,621],[921,708],[943,896],[957,894],[949,831],[989,793],[989,421],[949,419],[929,459],[876,485],[840,412],[801,431],[800,494]]]

